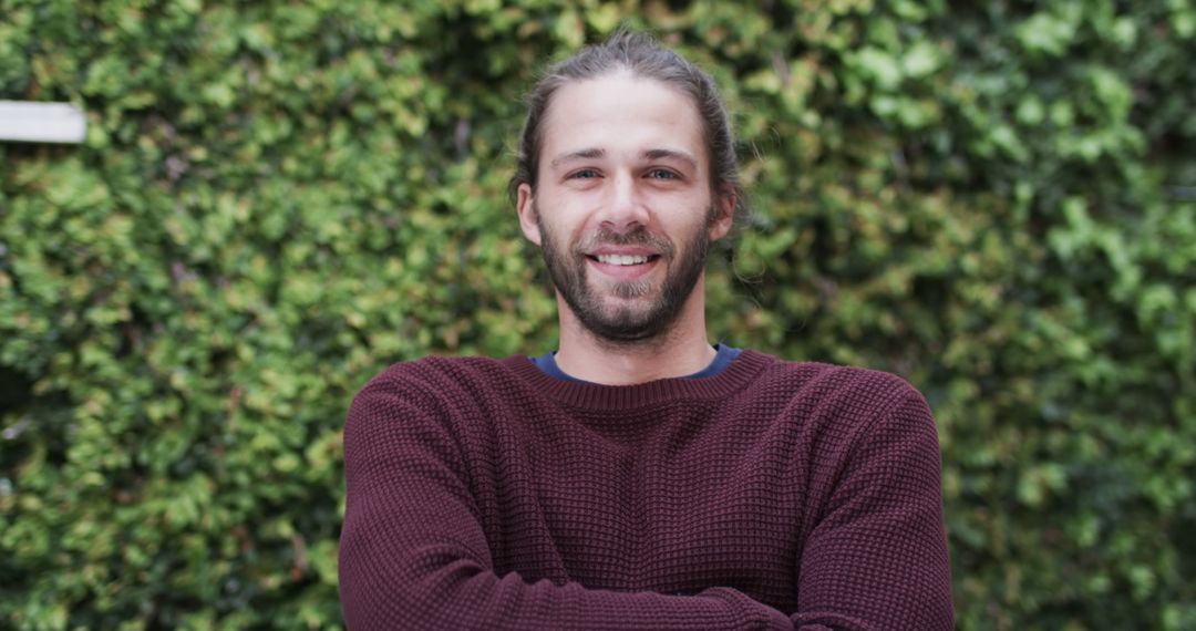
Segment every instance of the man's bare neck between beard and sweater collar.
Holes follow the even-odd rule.
[[[685,376],[709,366],[716,355],[706,337],[706,300],[701,282],[677,321],[661,337],[616,343],[597,337],[560,298],[561,347],[556,364],[566,374],[608,386],[643,384]]]

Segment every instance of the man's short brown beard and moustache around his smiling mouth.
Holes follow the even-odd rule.
[[[710,247],[707,229],[714,219],[713,207],[707,212],[707,221],[683,244],[679,257],[672,241],[649,233],[643,226],[622,234],[602,229],[565,251],[542,221],[538,208],[535,213],[553,286],[582,326],[606,342],[628,344],[663,337],[681,316],[706,268]],[[652,280],[616,282],[605,289],[591,284],[586,252],[598,245],[652,249],[660,256],[659,263],[666,265],[660,287]]]

